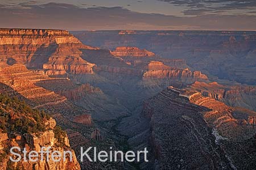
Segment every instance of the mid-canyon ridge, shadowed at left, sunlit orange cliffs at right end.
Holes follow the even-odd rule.
[[[160,57],[134,58],[131,56],[116,58],[112,55],[112,52],[109,53],[109,51],[104,50],[85,50],[84,54],[86,56],[84,55],[82,58],[96,63],[97,66],[94,67],[96,72],[137,76],[146,82],[151,79],[166,79],[183,83],[193,83],[196,80],[208,82],[207,75],[202,74],[200,71],[191,71],[187,68],[181,69],[186,64],[179,59],[163,59]],[[91,56],[94,57],[92,58]]]

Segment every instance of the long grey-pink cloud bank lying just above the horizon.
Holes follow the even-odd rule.
[[[188,14],[195,11],[187,11]],[[197,11],[207,12],[207,11]],[[79,7],[65,3],[0,6],[0,27],[84,29],[207,29],[254,30],[253,15],[199,15],[178,17],[146,14],[124,7]]]

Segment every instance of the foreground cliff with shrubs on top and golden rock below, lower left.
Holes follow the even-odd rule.
[[[0,95],[0,110],[1,169],[80,169],[75,152],[69,146],[67,134],[56,127],[55,120],[49,118],[47,114],[30,108],[18,97],[10,98],[2,94]],[[4,118],[6,115],[8,118]],[[51,147],[51,153],[59,151],[63,154],[64,150],[69,150],[72,152],[72,160],[70,161],[67,157],[65,161],[53,162],[52,158],[49,158],[47,162],[46,155],[44,155],[42,162],[26,162],[22,156],[20,162],[14,163],[9,159],[9,156],[13,156],[10,154],[9,148],[14,146],[20,147],[22,150],[26,148],[28,152],[40,151],[43,146]]]

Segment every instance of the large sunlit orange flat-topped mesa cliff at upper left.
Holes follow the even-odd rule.
[[[1,62],[26,64],[49,75],[92,74],[93,63],[80,57],[79,49],[97,49],[82,44],[64,30],[0,29]]]

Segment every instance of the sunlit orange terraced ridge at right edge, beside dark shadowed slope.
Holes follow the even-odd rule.
[[[254,130],[251,131],[251,128],[254,127],[254,121],[252,118],[256,116],[256,112],[230,107],[212,97],[204,97],[200,93],[191,95],[189,100],[212,110],[204,113],[204,119],[218,129],[224,137],[245,140],[253,135]]]

